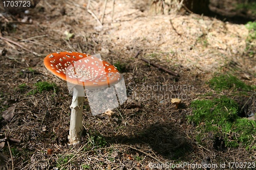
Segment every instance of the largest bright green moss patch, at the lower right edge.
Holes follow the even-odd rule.
[[[238,116],[238,104],[226,96],[213,100],[196,100],[191,103],[193,115],[188,119],[196,124],[200,133],[196,136],[198,142],[208,133],[215,138],[222,138],[226,147],[245,147],[256,149],[256,123]],[[208,142],[208,141],[207,141]],[[207,144],[207,143],[205,143]]]

